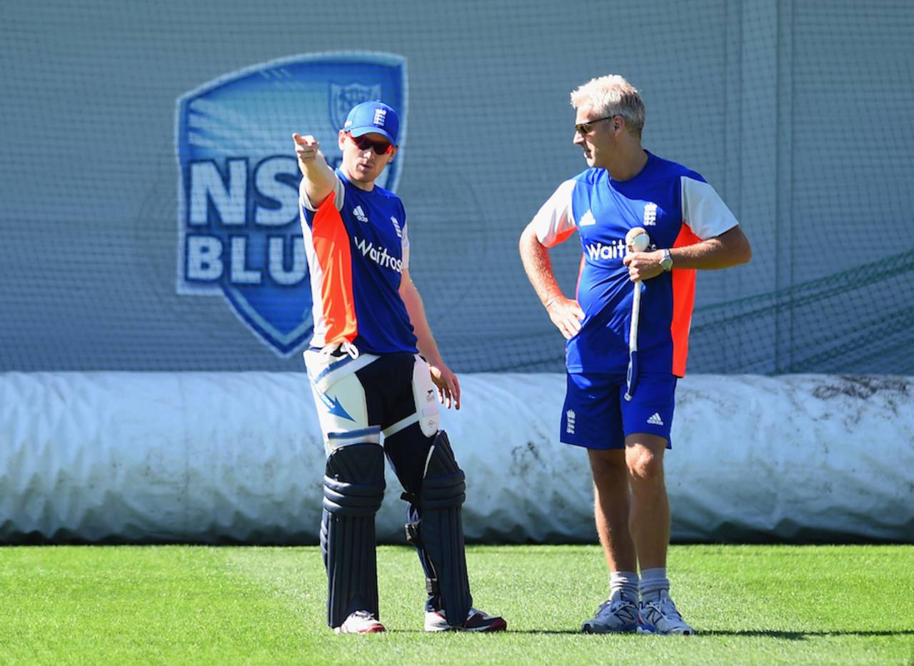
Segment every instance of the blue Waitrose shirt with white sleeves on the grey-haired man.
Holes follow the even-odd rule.
[[[646,151],[645,151],[646,152]],[[551,248],[578,231],[581,258],[577,300],[584,311],[578,334],[566,344],[570,373],[624,374],[633,283],[625,234],[643,227],[656,248],[714,238],[736,217],[701,175],[647,153],[642,171],[627,181],[588,169],[558,186],[536,217],[539,242]],[[643,282],[638,351],[642,372],[685,375],[695,270],[674,269]]]

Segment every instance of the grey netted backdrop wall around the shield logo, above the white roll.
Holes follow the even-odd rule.
[[[699,276],[690,370],[912,374],[912,34],[887,0],[5,3],[0,370],[301,368],[177,293],[176,101],[371,50],[407,63],[398,193],[458,371],[561,368],[516,240],[585,167],[569,90],[612,72],[642,90],[646,147],[704,174],[755,250]],[[555,252],[567,291],[579,253]]]

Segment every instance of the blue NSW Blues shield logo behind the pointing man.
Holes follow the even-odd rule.
[[[278,355],[311,337],[312,294],[299,223],[292,132],[314,134],[332,166],[349,110],[384,100],[407,120],[406,60],[380,53],[282,58],[231,72],[177,100],[177,291],[221,295]]]

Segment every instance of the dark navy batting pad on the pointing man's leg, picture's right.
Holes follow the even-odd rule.
[[[413,500],[420,520],[407,525],[407,539],[419,548],[429,593],[440,597],[452,626],[463,624],[473,606],[461,515],[465,489],[463,471],[442,430],[431,445],[419,496]]]

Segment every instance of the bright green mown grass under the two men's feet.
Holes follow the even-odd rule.
[[[406,547],[378,549],[388,632],[369,636],[324,625],[315,547],[0,548],[0,661],[914,662],[914,546],[674,546],[692,637],[579,633],[606,596],[596,546],[478,546],[467,560],[475,605],[506,633],[424,633]]]

